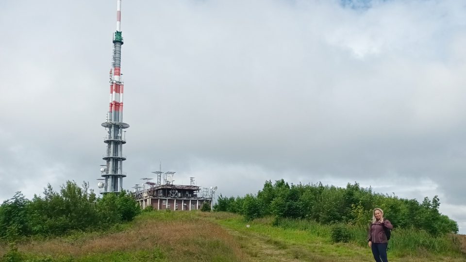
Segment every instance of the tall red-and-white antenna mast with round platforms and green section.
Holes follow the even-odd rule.
[[[123,189],[123,144],[126,138],[123,129],[130,125],[123,123],[123,82],[121,81],[121,45],[123,36],[121,34],[121,0],[116,0],[116,32],[113,35],[113,62],[110,69],[110,104],[107,112],[107,121],[102,126],[107,130],[104,143],[107,144],[106,168],[101,168],[102,177],[105,180],[104,189],[101,194],[119,192]],[[125,131],[126,132],[126,131]]]

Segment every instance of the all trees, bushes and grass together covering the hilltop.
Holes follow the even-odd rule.
[[[71,181],[32,200],[17,193],[0,206],[0,261],[371,261],[366,227],[374,206],[396,226],[391,261],[466,261],[466,239],[449,233],[458,228],[438,212],[437,197],[418,203],[356,183],[283,180],[267,181],[257,195],[219,197],[217,211],[243,215],[140,213],[124,192],[98,198]]]

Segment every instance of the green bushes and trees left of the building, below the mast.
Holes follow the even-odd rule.
[[[124,191],[97,197],[86,182],[80,187],[74,181],[67,181],[58,192],[49,184],[43,196],[34,195],[30,200],[17,192],[3,201],[0,206],[0,239],[105,229],[131,221],[139,212],[139,204]]]

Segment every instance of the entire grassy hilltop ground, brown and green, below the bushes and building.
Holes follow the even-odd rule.
[[[246,227],[249,225],[249,227]],[[457,238],[455,238],[457,239]],[[361,241],[364,242],[364,239]],[[465,243],[434,254],[400,251],[396,235],[392,262],[466,261]],[[454,246],[458,245],[458,246]],[[331,241],[325,227],[274,227],[271,218],[245,222],[231,213],[145,212],[130,223],[98,232],[70,232],[65,237],[24,239],[0,244],[3,261],[373,261],[360,243]]]

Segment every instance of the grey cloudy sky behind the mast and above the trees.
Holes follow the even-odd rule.
[[[422,200],[466,233],[463,0],[122,1],[124,187],[151,171]],[[0,1],[0,200],[97,189],[116,0]]]

